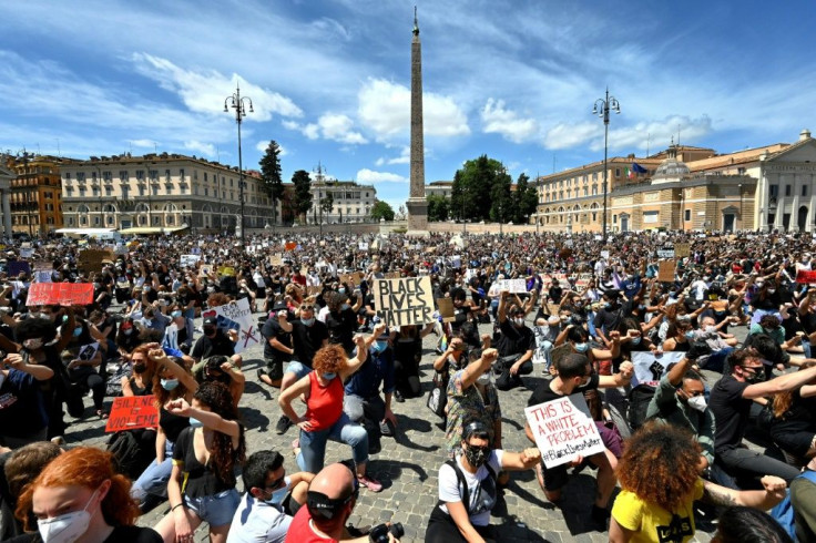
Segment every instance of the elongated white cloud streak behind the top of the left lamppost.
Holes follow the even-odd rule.
[[[226,76],[216,70],[185,70],[147,53],[134,53],[132,61],[139,73],[154,80],[162,89],[178,94],[184,104],[196,113],[225,114],[224,100],[235,93],[236,74]],[[268,121],[274,113],[289,117],[303,116],[300,107],[290,99],[243,79],[241,84],[244,86],[242,98],[249,98],[253,105],[251,113],[248,102],[245,102],[245,120]],[[232,99],[226,105],[235,116]]]

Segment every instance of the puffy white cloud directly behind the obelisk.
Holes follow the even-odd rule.
[[[410,131],[410,90],[382,79],[369,79],[358,93],[357,114],[360,123],[376,134],[378,141],[406,137]],[[460,136],[470,134],[468,119],[452,98],[422,94],[425,135]]]

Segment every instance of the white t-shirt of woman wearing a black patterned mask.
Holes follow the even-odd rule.
[[[497,449],[490,451],[490,457],[488,458],[488,463],[497,475],[501,470],[501,458],[503,454],[504,451]],[[487,526],[490,524],[490,510],[496,505],[496,481],[490,477],[490,471],[484,465],[479,467],[476,473],[470,473],[462,467],[461,455],[457,455],[456,463],[459,465],[462,475],[465,475],[465,482],[468,484],[470,504],[467,509],[470,523],[475,526]],[[439,499],[442,502],[460,502],[462,498],[456,471],[447,463],[442,464],[439,468]],[[439,509],[448,513],[448,508],[445,504],[440,505]]]

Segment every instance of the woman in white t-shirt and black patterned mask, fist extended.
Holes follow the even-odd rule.
[[[529,470],[540,460],[536,448],[522,452],[492,449],[484,424],[466,426],[460,452],[439,469],[439,503],[430,514],[426,543],[494,539],[490,511],[498,498],[499,470]]]

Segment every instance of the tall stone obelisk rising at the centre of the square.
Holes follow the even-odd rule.
[[[422,134],[422,45],[419,42],[417,7],[414,7],[411,40],[411,186],[408,197],[409,236],[428,236],[428,201],[425,198],[425,137]]]

